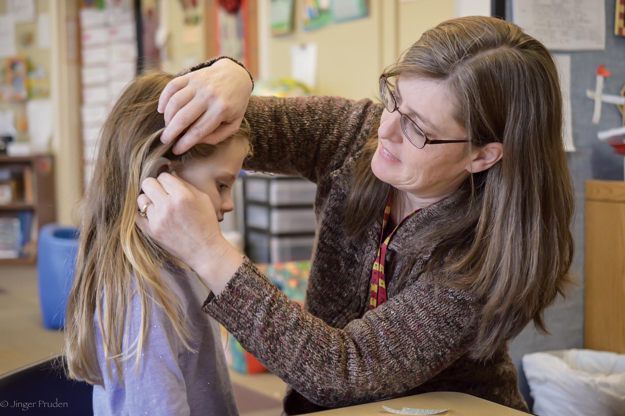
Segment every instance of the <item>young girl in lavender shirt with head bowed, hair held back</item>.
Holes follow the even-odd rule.
[[[173,142],[161,143],[157,111],[173,78],[153,73],[125,89],[104,123],[82,201],[64,353],[68,377],[94,385],[96,416],[238,414],[219,325],[201,310],[208,288],[135,218],[143,179],[173,170],[209,195],[222,220],[250,153],[249,126],[226,143],[174,155]]]

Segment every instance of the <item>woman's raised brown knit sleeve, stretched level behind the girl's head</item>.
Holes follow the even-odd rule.
[[[370,99],[252,96],[245,117],[254,155],[244,168],[316,183],[362,146],[381,113],[381,104]]]

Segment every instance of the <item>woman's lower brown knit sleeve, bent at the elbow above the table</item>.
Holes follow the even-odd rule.
[[[333,328],[291,302],[246,258],[202,309],[302,396],[343,407],[406,392],[464,355],[476,304],[460,290],[441,287],[436,296],[419,280]]]

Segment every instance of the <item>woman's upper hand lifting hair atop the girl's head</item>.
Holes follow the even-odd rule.
[[[232,136],[241,126],[251,91],[249,74],[230,59],[174,78],[158,103],[167,126],[161,141],[169,143],[191,126],[173,148],[180,155],[197,143],[214,145]]]

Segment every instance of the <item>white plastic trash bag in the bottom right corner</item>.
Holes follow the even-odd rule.
[[[557,350],[526,354],[538,416],[625,416],[625,354]]]

